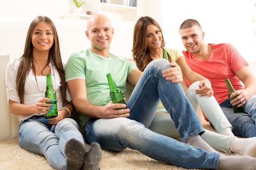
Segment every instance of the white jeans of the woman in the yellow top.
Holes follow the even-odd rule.
[[[217,132],[221,132],[226,127],[232,127],[213,96],[200,97],[198,94],[194,93],[194,90],[198,88],[198,85],[199,82],[194,82],[186,93],[196,113],[200,106],[204,115],[212,122]],[[149,129],[165,136],[178,138],[179,134],[175,129],[174,122],[170,119],[170,115],[165,109],[158,109],[158,111],[159,112],[156,113]],[[209,130],[205,130],[205,133],[201,137],[213,147],[213,149],[231,153],[229,146],[234,137],[221,135]]]

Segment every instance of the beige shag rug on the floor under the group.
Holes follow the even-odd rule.
[[[206,129],[213,130],[208,122]],[[88,148],[88,145],[86,146]],[[126,149],[122,152],[103,151],[101,170],[185,170],[168,165]],[[42,155],[28,152],[18,144],[17,137],[0,140],[0,170],[53,170]]]

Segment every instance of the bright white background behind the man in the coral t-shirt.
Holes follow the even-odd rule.
[[[167,47],[183,50],[181,23],[196,19],[205,32],[206,43],[230,42],[246,60],[256,60],[256,7],[254,0],[163,0],[161,26]],[[255,16],[256,17],[256,16]]]

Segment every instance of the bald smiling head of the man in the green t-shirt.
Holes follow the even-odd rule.
[[[85,34],[91,42],[91,51],[109,51],[113,33],[111,22],[106,16],[95,15],[89,19]]]

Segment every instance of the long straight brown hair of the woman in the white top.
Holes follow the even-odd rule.
[[[52,28],[54,42],[49,51],[47,65],[49,63],[52,63],[53,66],[57,69],[58,73],[60,74],[61,84],[62,84],[61,99],[64,103],[67,103],[64,68],[62,64],[58,34],[52,20],[48,17],[42,17],[42,16],[35,17],[31,22],[27,31],[24,53],[21,56],[21,63],[18,68],[17,79],[16,79],[16,88],[18,91],[18,95],[20,97],[21,103],[24,103],[24,87],[25,87],[26,77],[31,69],[31,66],[32,66],[32,69],[35,71],[35,66],[33,64],[34,63],[33,62],[33,45],[31,42],[31,37],[32,37],[34,28],[40,22],[45,22]]]

